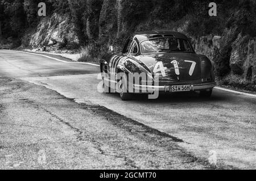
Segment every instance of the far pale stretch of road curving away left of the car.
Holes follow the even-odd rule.
[[[97,73],[98,68],[86,64],[67,64],[42,56],[0,50],[0,78],[47,77]]]

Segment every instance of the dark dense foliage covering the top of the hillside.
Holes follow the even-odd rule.
[[[21,36],[35,27],[41,0],[2,0],[2,32]],[[76,24],[81,42],[113,40],[137,30],[173,28],[173,22],[187,17],[188,33],[199,37],[221,35],[225,28],[237,26],[238,32],[255,36],[255,2],[253,0],[216,0],[218,16],[208,15],[209,2],[200,0],[46,0],[47,15],[67,14]],[[251,25],[251,26],[250,26]],[[113,35],[110,35],[113,34]],[[103,42],[106,43],[106,42]]]

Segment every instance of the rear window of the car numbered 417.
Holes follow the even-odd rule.
[[[141,43],[142,53],[157,52],[189,52],[192,53],[189,41],[175,37],[163,37],[158,39],[146,40]]]

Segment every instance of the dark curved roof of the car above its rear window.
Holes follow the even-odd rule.
[[[183,33],[175,32],[175,31],[168,31],[168,30],[155,30],[155,31],[142,31],[142,32],[135,32],[132,37],[136,37],[138,41],[143,41],[147,39],[152,39],[154,37],[177,37],[184,40],[189,40],[187,36]]]

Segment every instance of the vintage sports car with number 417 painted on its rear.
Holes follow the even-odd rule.
[[[122,100],[133,94],[199,91],[212,95],[214,68],[209,58],[196,54],[187,36],[172,31],[134,33],[121,53],[105,54],[101,74],[106,93],[118,92]]]

